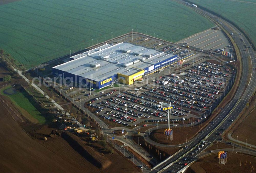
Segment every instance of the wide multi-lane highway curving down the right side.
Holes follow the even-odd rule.
[[[182,1],[184,3],[184,1]],[[244,51],[244,45],[248,43],[248,40],[240,34],[240,32],[231,24],[223,21],[216,16],[209,14],[207,12],[202,11],[201,9],[197,9],[200,13],[204,13],[205,15],[214,18],[215,20],[219,21],[219,24],[224,27],[228,33],[234,33],[233,39],[236,42],[241,58],[242,58],[242,76],[240,80],[240,85],[237,89],[234,98],[222,109],[219,115],[213,120],[213,124],[209,124],[203,130],[204,133],[199,133],[193,141],[188,145],[188,149],[184,149],[175,156],[172,156],[168,161],[163,161],[161,164],[158,164],[156,167],[153,168],[151,172],[179,172],[184,167],[184,164],[188,163],[188,165],[196,160],[199,155],[201,154],[202,150],[209,146],[212,142],[219,140],[220,136],[219,133],[222,133],[223,129],[227,129],[232,123],[231,120],[235,120],[242,109],[248,103],[248,100],[252,96],[255,90],[255,83],[253,81],[256,80],[255,73],[248,76],[248,63],[252,63],[252,68],[256,67],[254,61],[251,61],[255,58],[254,50],[248,46],[246,51]],[[248,57],[251,56],[251,60],[248,61]],[[245,83],[247,78],[250,78],[250,83],[247,88],[245,88]],[[192,155],[191,153],[195,151],[199,144],[202,144],[201,141],[206,141],[206,145],[202,147],[196,154]],[[220,140],[219,140],[220,142]],[[248,148],[247,148],[248,149]],[[187,158],[186,161],[183,159]],[[181,162],[181,164],[177,164]],[[188,166],[187,165],[187,166]]]

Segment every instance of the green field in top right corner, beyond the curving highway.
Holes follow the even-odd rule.
[[[255,0],[191,0],[197,5],[229,19],[238,25],[256,43]]]

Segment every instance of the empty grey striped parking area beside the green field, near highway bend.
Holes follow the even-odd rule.
[[[179,42],[203,50],[226,48],[230,45],[223,32],[217,27],[195,34]]]

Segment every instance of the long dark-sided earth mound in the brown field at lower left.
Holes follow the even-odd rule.
[[[78,136],[69,132],[62,133],[61,136],[74,150],[98,168],[106,169],[111,165],[111,161],[107,157],[100,155],[95,151],[95,149],[85,145]]]

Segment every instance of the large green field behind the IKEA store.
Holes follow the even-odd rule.
[[[138,31],[175,42],[213,27],[174,1],[22,0],[0,6],[0,48],[26,68]]]

